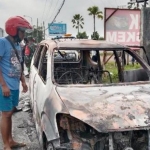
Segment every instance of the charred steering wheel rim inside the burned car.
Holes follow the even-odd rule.
[[[83,83],[84,78],[77,72],[67,71],[58,79],[58,83],[78,84]]]

